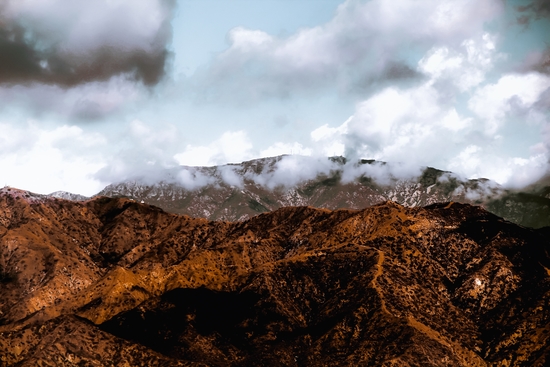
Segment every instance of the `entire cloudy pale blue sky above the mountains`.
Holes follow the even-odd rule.
[[[281,154],[535,182],[550,2],[0,0],[0,185]]]

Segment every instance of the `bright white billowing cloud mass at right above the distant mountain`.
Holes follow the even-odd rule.
[[[549,126],[545,101],[550,79],[530,72],[503,74],[489,82],[487,74],[502,57],[494,51],[493,38],[482,34],[452,51],[432,48],[417,66],[427,79],[374,93],[340,126],[312,131],[313,144],[343,149],[351,159],[402,162],[400,169],[432,165],[514,187],[539,179],[550,158],[548,134],[542,133]],[[458,108],[457,98],[465,99],[467,108]],[[542,138],[533,145],[537,152],[504,149],[512,141],[525,144],[537,130]],[[398,170],[373,174],[384,179]],[[346,179],[360,173],[350,170]]]

